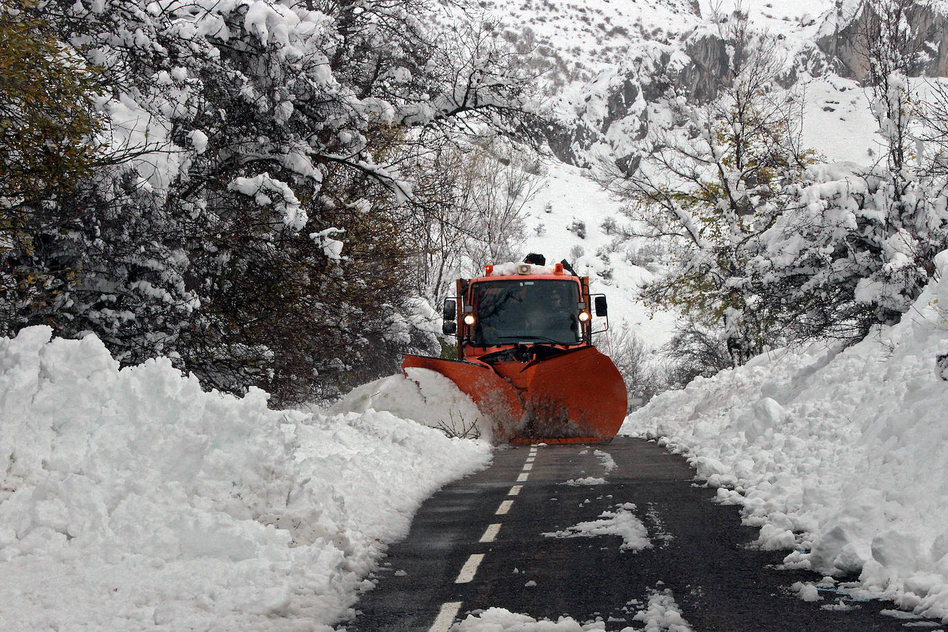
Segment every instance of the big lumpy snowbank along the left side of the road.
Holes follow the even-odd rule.
[[[3,630],[328,630],[425,497],[489,460],[50,335],[0,339]]]

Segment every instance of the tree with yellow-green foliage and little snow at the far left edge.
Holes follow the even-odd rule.
[[[48,261],[67,226],[64,199],[100,161],[95,68],[29,14],[0,4],[0,321],[48,309],[77,270]],[[32,226],[44,226],[36,232]]]

